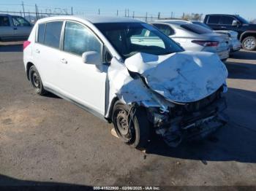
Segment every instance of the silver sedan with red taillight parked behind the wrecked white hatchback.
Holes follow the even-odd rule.
[[[185,50],[217,53],[222,61],[229,58],[229,39],[226,35],[181,20],[157,20],[151,25],[178,42]]]

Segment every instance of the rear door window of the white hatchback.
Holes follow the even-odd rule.
[[[62,23],[62,21],[46,23],[45,39],[43,44],[48,45],[49,47],[59,48]]]

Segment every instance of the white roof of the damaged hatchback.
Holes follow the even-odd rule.
[[[50,20],[86,20],[90,23],[143,23],[141,20],[135,20],[129,17],[105,17],[105,16],[80,16],[80,15],[67,15],[67,16],[56,16],[56,17],[45,17],[41,19],[44,22],[50,21]]]

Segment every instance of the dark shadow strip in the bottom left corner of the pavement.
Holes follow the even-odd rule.
[[[93,190],[93,187],[61,182],[37,182],[21,180],[0,174],[0,190]]]

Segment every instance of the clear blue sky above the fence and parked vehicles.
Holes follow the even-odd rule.
[[[42,12],[48,8],[59,7],[70,10],[73,7],[74,12],[85,12],[85,14],[95,14],[98,9],[102,15],[124,14],[124,9],[129,9],[130,14],[156,16],[161,12],[162,16],[170,17],[171,12],[177,17],[183,12],[195,13],[227,13],[239,14],[246,19],[256,18],[256,0],[23,0],[26,4],[25,9],[34,11],[34,4],[42,9]],[[0,10],[21,10],[21,1],[0,0]]]

